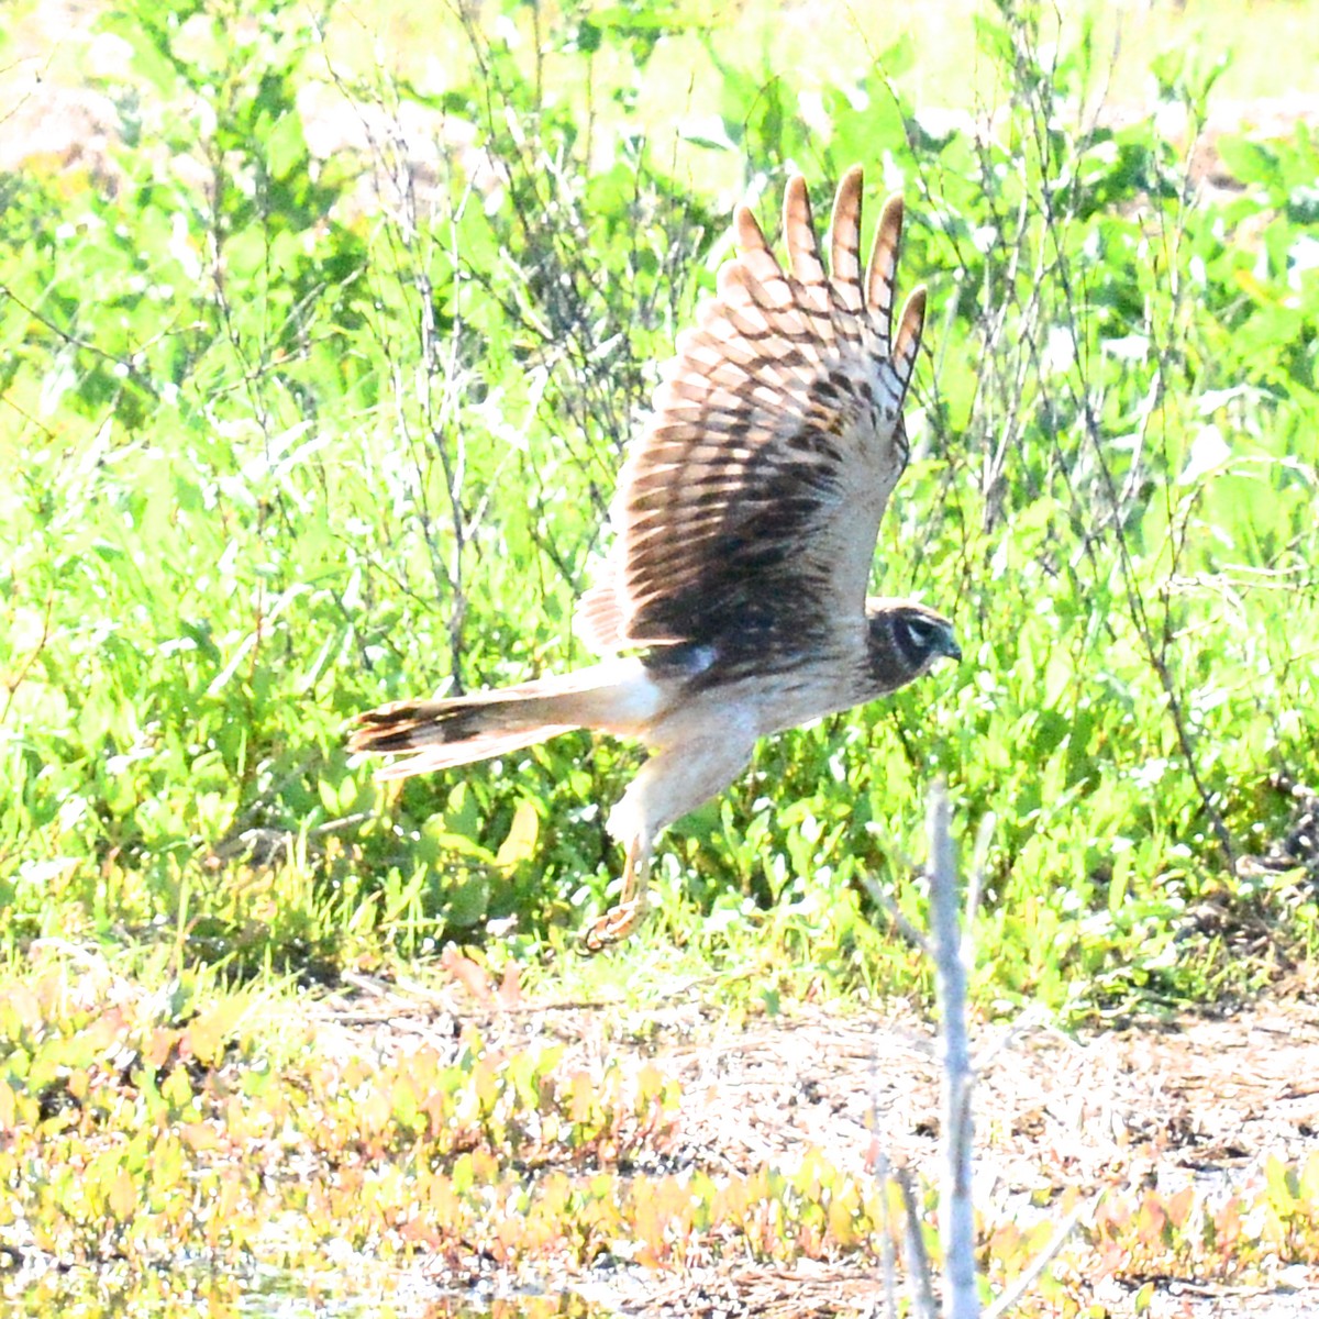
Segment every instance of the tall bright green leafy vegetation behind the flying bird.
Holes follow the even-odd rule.
[[[629,108],[662,12],[583,11],[534,69],[474,28],[441,94],[335,67],[298,7],[210,15],[108,15],[125,140],[3,185],[12,950],[164,933],[332,972],[516,915],[525,959],[607,901],[599,803],[633,749],[566,737],[385,791],[342,731],[583,658],[620,450],[724,243],[692,158],[766,214],[789,162],[818,195],[853,160],[907,195],[933,357],[877,587],[954,612],[968,658],[766,744],[673,831],[654,946],[719,963],[752,929],[807,980],[907,991],[857,880],[919,914],[935,774],[964,827],[998,819],[983,996],[1211,997],[1268,973],[1235,958],[1253,922],[1306,946],[1312,888],[1236,867],[1314,778],[1303,131],[1221,140],[1244,189],[1191,206],[1183,153],[1149,120],[1086,128],[1088,47],[1041,67],[1021,16],[980,25],[1010,87],[993,138],[915,112],[900,44],[810,124],[728,65],[718,133],[674,144]],[[1194,128],[1212,75],[1155,75]]]

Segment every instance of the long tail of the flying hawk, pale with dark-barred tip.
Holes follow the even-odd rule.
[[[357,716],[350,751],[414,752],[377,770],[408,778],[468,765],[571,732],[640,732],[653,714],[654,685],[636,662],[596,665],[448,700],[396,700]]]

